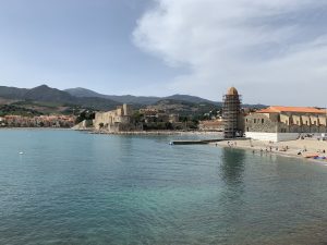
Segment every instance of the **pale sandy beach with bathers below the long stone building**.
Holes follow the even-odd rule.
[[[289,142],[269,143],[253,139],[235,139],[235,140],[222,140],[218,143],[211,143],[211,145],[220,147],[233,147],[252,150],[254,154],[277,154],[287,157],[304,158],[314,160],[317,162],[327,163],[327,142],[317,140],[314,138],[296,139]],[[314,159],[310,156],[318,156],[318,159]]]

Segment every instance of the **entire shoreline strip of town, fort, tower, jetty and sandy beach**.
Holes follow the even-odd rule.
[[[211,139],[172,144],[213,144],[250,149],[254,154],[279,154],[326,159],[327,110],[315,107],[247,107],[235,87],[222,102],[207,111],[180,114],[178,105],[136,107],[122,103],[114,110],[68,109],[65,114],[15,109],[0,114],[0,127],[73,128],[100,134],[207,134]],[[21,114],[17,113],[21,111]],[[3,111],[2,111],[3,112]]]

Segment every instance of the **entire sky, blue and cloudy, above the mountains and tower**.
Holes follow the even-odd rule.
[[[327,106],[323,0],[0,0],[0,85]]]

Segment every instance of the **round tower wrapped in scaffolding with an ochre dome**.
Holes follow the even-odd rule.
[[[234,87],[230,87],[223,96],[222,119],[225,138],[234,138],[242,135],[242,128],[240,128],[241,96]]]

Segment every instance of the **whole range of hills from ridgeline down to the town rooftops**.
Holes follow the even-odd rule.
[[[85,88],[59,90],[41,85],[32,89],[0,86],[2,114],[74,114],[83,111],[108,111],[122,103],[130,103],[136,110],[153,108],[170,114],[186,117],[190,121],[210,119],[208,112],[219,111],[221,102],[215,102],[196,96],[173,95],[169,97],[146,96],[107,96]],[[263,105],[244,105],[249,108],[262,108]]]

